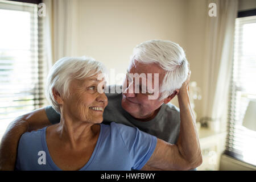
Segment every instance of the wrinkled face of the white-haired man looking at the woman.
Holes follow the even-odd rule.
[[[128,73],[144,73],[142,75],[146,76],[146,85],[143,83],[143,79],[139,78],[139,93],[135,92],[135,77],[130,78],[127,74],[126,81],[123,82],[123,95],[122,95],[122,107],[128,113],[130,113],[134,118],[138,119],[152,119],[155,117],[157,110],[163,104],[163,100],[159,101],[160,97],[159,91],[155,91],[154,93],[154,82],[159,81],[159,88],[162,80],[164,78],[164,71],[156,64],[141,64],[138,61],[134,61],[134,64],[130,64],[127,69]],[[152,74],[152,89],[148,89],[146,93],[142,93],[143,88],[147,86],[148,75],[147,73]],[[155,77],[154,73],[159,73],[159,77]],[[130,84],[129,84],[130,80]],[[138,82],[138,81],[137,81]],[[158,89],[159,90],[159,89]],[[126,93],[125,93],[126,91]],[[152,96],[155,94],[156,98],[154,100],[148,99],[148,96]]]

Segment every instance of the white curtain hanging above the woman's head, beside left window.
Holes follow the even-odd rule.
[[[78,1],[43,0],[46,4],[44,17],[44,45],[48,65],[64,56],[76,56],[78,46]]]

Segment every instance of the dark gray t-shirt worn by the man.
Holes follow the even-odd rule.
[[[121,106],[122,93],[107,93],[109,104],[103,114],[104,124],[110,122],[122,123],[163,139],[168,143],[176,144],[180,131],[180,111],[171,103],[163,104],[154,119],[147,122],[133,118]],[[51,106],[46,107],[46,114],[52,124],[60,122],[60,115]]]

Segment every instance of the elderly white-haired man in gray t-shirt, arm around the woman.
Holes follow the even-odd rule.
[[[109,105],[105,109],[103,123],[118,122],[135,126],[168,143],[176,143],[180,113],[179,109],[168,102],[179,93],[188,76],[188,61],[183,49],[170,41],[143,42],[134,48],[127,73],[144,73],[146,76],[151,73],[152,80],[159,78],[159,88],[154,88],[150,93],[142,92],[142,82],[135,85],[134,78],[127,74],[128,81],[123,84],[123,93],[106,94]],[[134,89],[136,86],[140,88],[138,93]],[[152,95],[157,97],[149,99]],[[60,115],[50,106],[15,119],[2,139],[0,167],[14,169],[20,135],[57,122],[60,122]]]

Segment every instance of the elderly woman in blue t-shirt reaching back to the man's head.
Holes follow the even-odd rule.
[[[191,169],[201,164],[200,146],[194,140],[185,151],[181,150],[182,143],[190,141],[183,142],[182,138],[181,146],[176,146],[137,128],[114,122],[101,124],[108,104],[102,73],[104,66],[89,57],[64,57],[53,65],[46,96],[61,121],[22,135],[16,169],[131,170],[145,165],[152,169]],[[180,92],[187,92],[186,86]],[[191,122],[189,102],[181,98],[179,102],[184,114],[181,120]],[[195,131],[188,134],[198,139]]]

